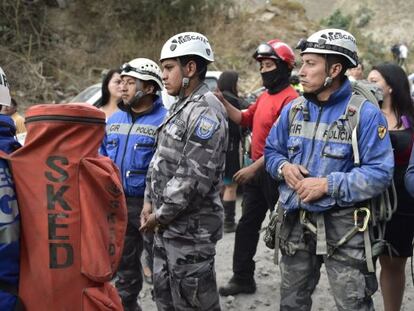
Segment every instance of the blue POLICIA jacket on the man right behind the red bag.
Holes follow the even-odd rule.
[[[167,114],[161,98],[135,122],[128,111],[118,111],[107,121],[101,153],[111,158],[121,171],[125,195],[143,197],[145,177],[155,152],[157,128]]]

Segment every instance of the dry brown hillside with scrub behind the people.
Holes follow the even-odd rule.
[[[362,36],[362,55],[390,57],[394,42],[412,46],[413,1],[5,0],[0,63],[24,110],[35,103],[65,101],[100,81],[103,70],[132,58],[157,60],[168,37],[195,30],[213,45],[212,69],[239,71],[239,88],[247,93],[261,83],[251,57],[258,43],[280,38],[295,46],[336,9],[352,15],[351,26]],[[361,19],[364,26],[357,27]]]

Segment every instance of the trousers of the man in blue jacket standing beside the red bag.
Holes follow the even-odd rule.
[[[142,204],[142,198],[127,198],[128,225],[125,234],[124,250],[115,282],[125,311],[141,310],[137,300],[143,285],[141,254],[144,243],[139,231],[139,216]]]

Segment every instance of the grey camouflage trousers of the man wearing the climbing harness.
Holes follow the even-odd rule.
[[[371,296],[378,283],[375,273],[367,269],[363,233],[358,232],[333,251],[333,246],[354,226],[354,210],[324,213],[329,256],[316,254],[317,236],[301,224],[299,212],[285,216],[280,233],[280,310],[311,310],[311,296],[319,282],[322,263],[338,310],[374,310]],[[308,213],[307,217],[312,224],[317,223],[317,213]]]

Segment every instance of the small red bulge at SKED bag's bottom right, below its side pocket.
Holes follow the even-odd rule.
[[[109,283],[83,290],[82,311],[122,311],[122,302],[116,289]]]

